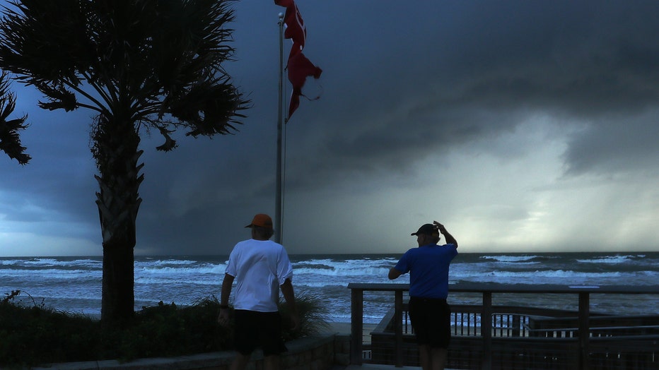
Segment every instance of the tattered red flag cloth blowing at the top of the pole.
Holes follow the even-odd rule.
[[[309,76],[320,78],[322,69],[314,66],[313,63],[302,54],[307,38],[307,29],[304,26],[304,20],[302,19],[295,1],[274,0],[274,4],[286,8],[286,14],[284,15],[284,23],[286,24],[284,38],[293,41],[291,52],[288,54],[288,63],[286,64],[286,69],[288,69],[288,80],[291,81],[291,85],[293,85],[291,103],[288,105],[288,119],[290,119],[293,112],[295,112],[300,105],[300,97],[305,96],[302,93],[302,87],[305,80]]]

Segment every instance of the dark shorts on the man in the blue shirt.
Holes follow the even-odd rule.
[[[451,309],[446,299],[409,298],[409,319],[416,343],[448,348],[451,338]]]

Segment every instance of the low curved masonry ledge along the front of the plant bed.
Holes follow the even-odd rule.
[[[337,348],[341,351],[346,347],[343,343],[336,345],[337,337],[342,338],[341,340],[346,339],[344,336],[334,333],[325,333],[286,342],[288,352],[281,355],[281,369],[324,370],[332,368],[337,357]],[[136,359],[124,363],[117,360],[68,362],[34,367],[33,370],[228,370],[234,357],[235,352],[233,351],[210,352],[179,357]],[[248,369],[262,369],[262,362],[263,354],[258,350],[252,354]]]

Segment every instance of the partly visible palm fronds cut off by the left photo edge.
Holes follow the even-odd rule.
[[[16,94],[9,90],[8,73],[2,71],[0,74],[0,150],[21,165],[27,165],[31,158],[30,155],[25,154],[25,147],[21,145],[18,131],[28,127],[25,124],[28,116],[8,120],[14,108],[16,108]]]

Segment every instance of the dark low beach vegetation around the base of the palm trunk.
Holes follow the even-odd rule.
[[[218,325],[216,297],[188,306],[160,302],[136,311],[126,327],[108,328],[96,318],[50,309],[34,299],[27,304],[18,302],[19,294],[15,291],[0,300],[1,369],[103,359],[127,362],[233,349],[233,325]],[[328,328],[327,313],[317,297],[307,294],[296,301],[301,321],[298,330],[286,325],[288,311],[285,305],[280,307],[286,340]]]

